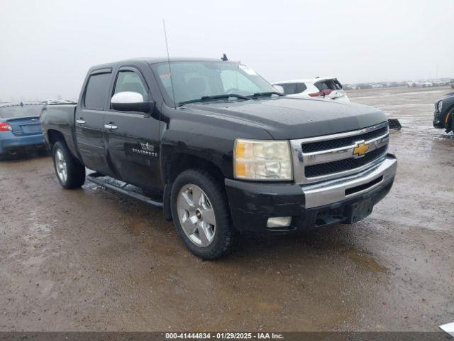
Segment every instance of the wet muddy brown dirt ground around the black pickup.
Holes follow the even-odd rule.
[[[399,118],[394,188],[370,217],[189,254],[162,212],[97,185],[63,190],[48,156],[0,162],[0,330],[438,330],[454,321],[448,87],[349,92]]]

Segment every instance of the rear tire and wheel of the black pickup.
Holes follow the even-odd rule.
[[[85,166],[72,156],[63,141],[55,142],[52,147],[55,175],[63,188],[72,190],[85,183]]]

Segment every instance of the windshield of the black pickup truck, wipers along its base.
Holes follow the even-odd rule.
[[[246,65],[231,62],[171,62],[152,66],[172,102],[172,85],[177,104],[202,97],[227,100],[227,94],[253,96],[274,93],[275,88]],[[172,74],[170,73],[172,72]],[[172,76],[172,78],[171,78]],[[238,96],[236,97],[238,99]]]

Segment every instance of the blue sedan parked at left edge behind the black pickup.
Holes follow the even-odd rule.
[[[41,102],[0,104],[0,156],[44,148],[40,127]]]

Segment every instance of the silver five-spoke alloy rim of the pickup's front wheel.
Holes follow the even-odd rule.
[[[216,217],[204,191],[197,185],[184,185],[178,193],[177,211],[189,240],[198,247],[208,247],[216,233]]]

